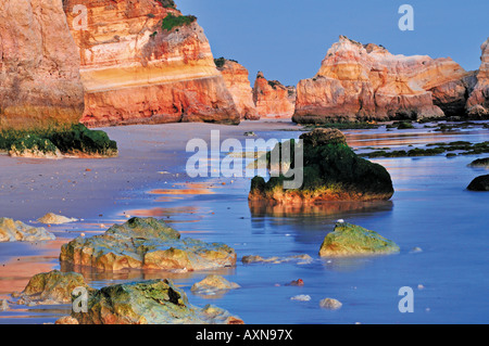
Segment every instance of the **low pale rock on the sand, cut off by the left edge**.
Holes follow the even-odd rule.
[[[0,242],[52,241],[57,238],[45,228],[35,228],[22,221],[0,218]]]

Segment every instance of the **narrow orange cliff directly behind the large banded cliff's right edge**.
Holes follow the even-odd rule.
[[[253,102],[248,69],[239,63],[220,57],[217,69],[224,77],[227,89],[233,95],[241,119],[258,120],[260,115]]]

